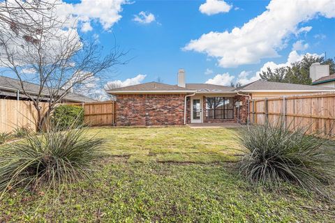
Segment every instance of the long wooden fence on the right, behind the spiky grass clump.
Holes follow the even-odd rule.
[[[295,95],[249,101],[250,123],[278,123],[292,130],[311,125],[310,132],[335,135],[335,93]]]

